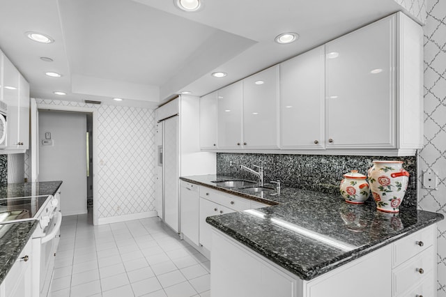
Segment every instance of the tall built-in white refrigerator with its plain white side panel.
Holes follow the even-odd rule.
[[[180,234],[180,176],[215,174],[215,153],[199,143],[199,98],[181,95],[156,110],[156,210]]]

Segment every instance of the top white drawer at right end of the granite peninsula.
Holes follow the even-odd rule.
[[[415,254],[429,248],[435,240],[435,226],[436,225],[432,225],[417,231],[414,234],[411,234],[406,238],[401,238],[399,241],[394,243],[393,267],[397,267],[399,264],[415,256]]]

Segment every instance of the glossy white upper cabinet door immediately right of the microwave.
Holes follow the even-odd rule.
[[[18,148],[19,143],[19,71],[3,55],[3,101],[8,105],[8,148]]]

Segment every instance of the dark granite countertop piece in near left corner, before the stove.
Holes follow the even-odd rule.
[[[36,220],[0,224],[0,284],[13,267],[37,224]]]

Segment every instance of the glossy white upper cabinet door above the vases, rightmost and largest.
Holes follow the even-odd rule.
[[[327,148],[395,147],[395,21],[325,45]]]

